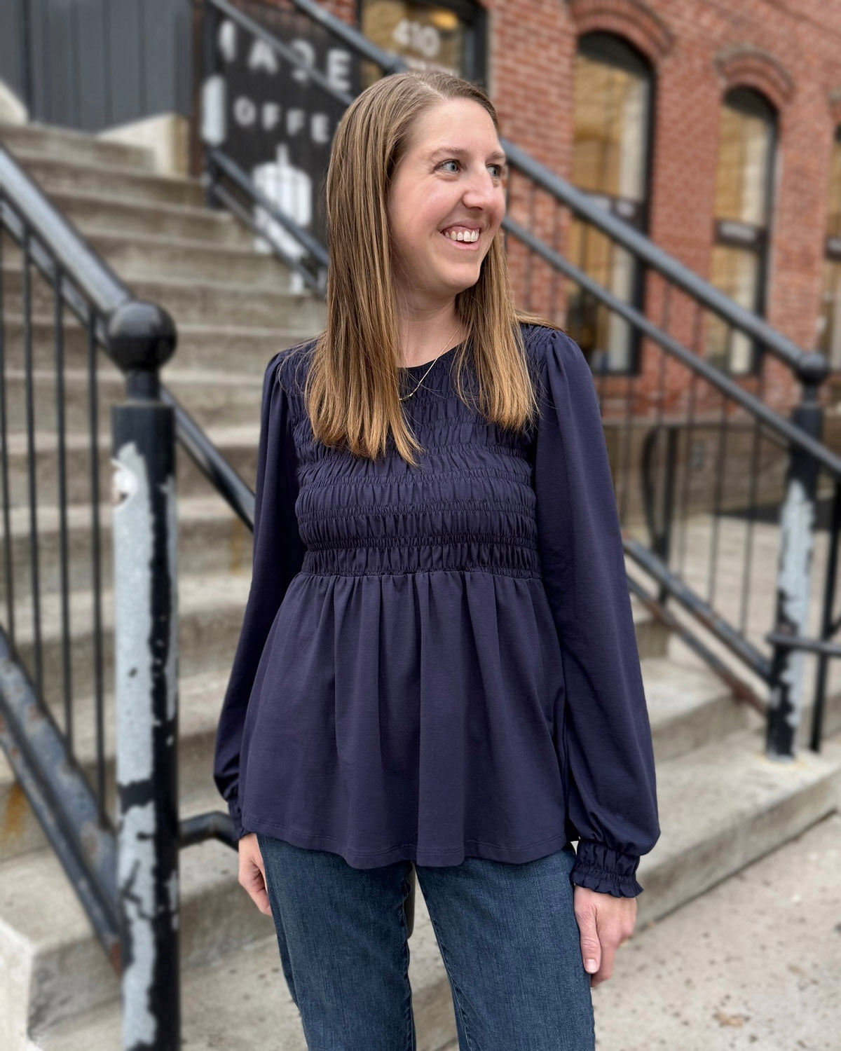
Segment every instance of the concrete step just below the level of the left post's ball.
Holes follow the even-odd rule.
[[[270,358],[269,358],[270,359]],[[266,365],[268,365],[268,360]],[[110,433],[110,407],[125,401],[123,374],[107,358],[97,375],[97,401],[101,432]],[[165,366],[162,379],[189,414],[203,428],[239,427],[260,423],[262,377],[242,376],[233,370],[213,372],[208,369],[184,369],[173,360]],[[88,377],[82,369],[65,369],[62,399],[64,427],[67,431],[88,430]],[[11,432],[26,428],[26,374],[22,369],[6,370],[7,420]],[[55,432],[59,419],[56,406],[56,373],[49,369],[33,370],[33,403],[36,427],[40,431]]]

